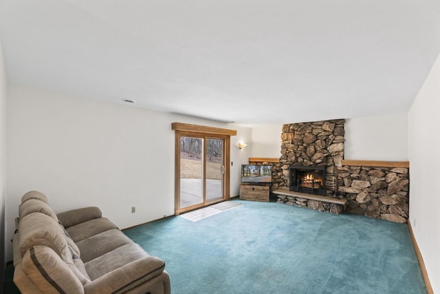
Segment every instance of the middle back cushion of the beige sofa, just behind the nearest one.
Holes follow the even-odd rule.
[[[19,247],[21,256],[32,246],[43,245],[50,247],[66,260],[70,251],[58,222],[43,213],[30,213],[19,222]]]

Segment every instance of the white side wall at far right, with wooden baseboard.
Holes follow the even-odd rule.
[[[434,293],[440,293],[440,56],[408,114],[410,222]]]

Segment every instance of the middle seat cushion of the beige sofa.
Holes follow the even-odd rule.
[[[88,262],[125,244],[133,243],[119,229],[110,229],[76,243],[83,262]]]

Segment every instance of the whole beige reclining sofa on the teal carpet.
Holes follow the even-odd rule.
[[[57,215],[43,193],[30,191],[12,242],[21,293],[170,293],[165,262],[102,218],[98,207]]]

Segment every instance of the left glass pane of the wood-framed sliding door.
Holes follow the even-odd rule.
[[[180,137],[180,208],[203,204],[203,138]]]

